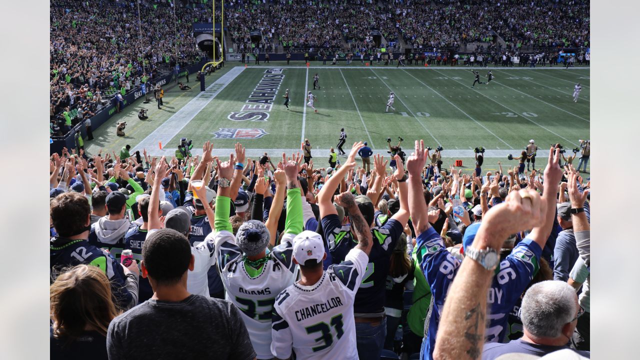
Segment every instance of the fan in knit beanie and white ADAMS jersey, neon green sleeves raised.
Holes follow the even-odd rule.
[[[278,186],[288,186],[287,218],[280,245],[266,254],[269,231],[263,222],[249,220],[233,234],[229,223],[230,188],[221,181],[216,200],[216,233],[209,234],[215,242],[218,270],[222,275],[227,300],[242,311],[257,359],[271,359],[271,313],[276,295],[295,281],[296,264],[292,261],[296,234],[303,230],[303,211],[298,181],[302,156],[284,165],[284,172],[276,170]],[[220,178],[228,179],[234,171],[233,162],[220,165]],[[285,181],[286,175],[286,181]]]

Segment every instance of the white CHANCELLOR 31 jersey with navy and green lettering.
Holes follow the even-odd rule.
[[[358,359],[353,302],[369,257],[351,249],[312,286],[296,283],[276,297],[271,353],[288,359]]]

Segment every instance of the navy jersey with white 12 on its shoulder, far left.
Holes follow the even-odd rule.
[[[49,249],[51,282],[65,269],[76,265],[98,266],[111,282],[111,292],[116,304],[125,308],[133,297],[125,288],[125,274],[115,258],[103,249],[99,249],[86,240],[68,240],[54,238]]]

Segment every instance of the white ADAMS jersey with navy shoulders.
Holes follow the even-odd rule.
[[[296,280],[292,261],[293,238],[285,234],[282,243],[267,255],[260,270],[246,265],[236,237],[228,231],[207,236],[215,239],[218,270],[227,290],[226,299],[241,310],[253,350],[258,359],[271,359],[271,313],[276,295]],[[207,243],[205,240],[205,243]],[[200,245],[198,245],[200,246]]]

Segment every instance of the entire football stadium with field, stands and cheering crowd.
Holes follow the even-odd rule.
[[[51,0],[51,358],[589,358],[589,6]]]

